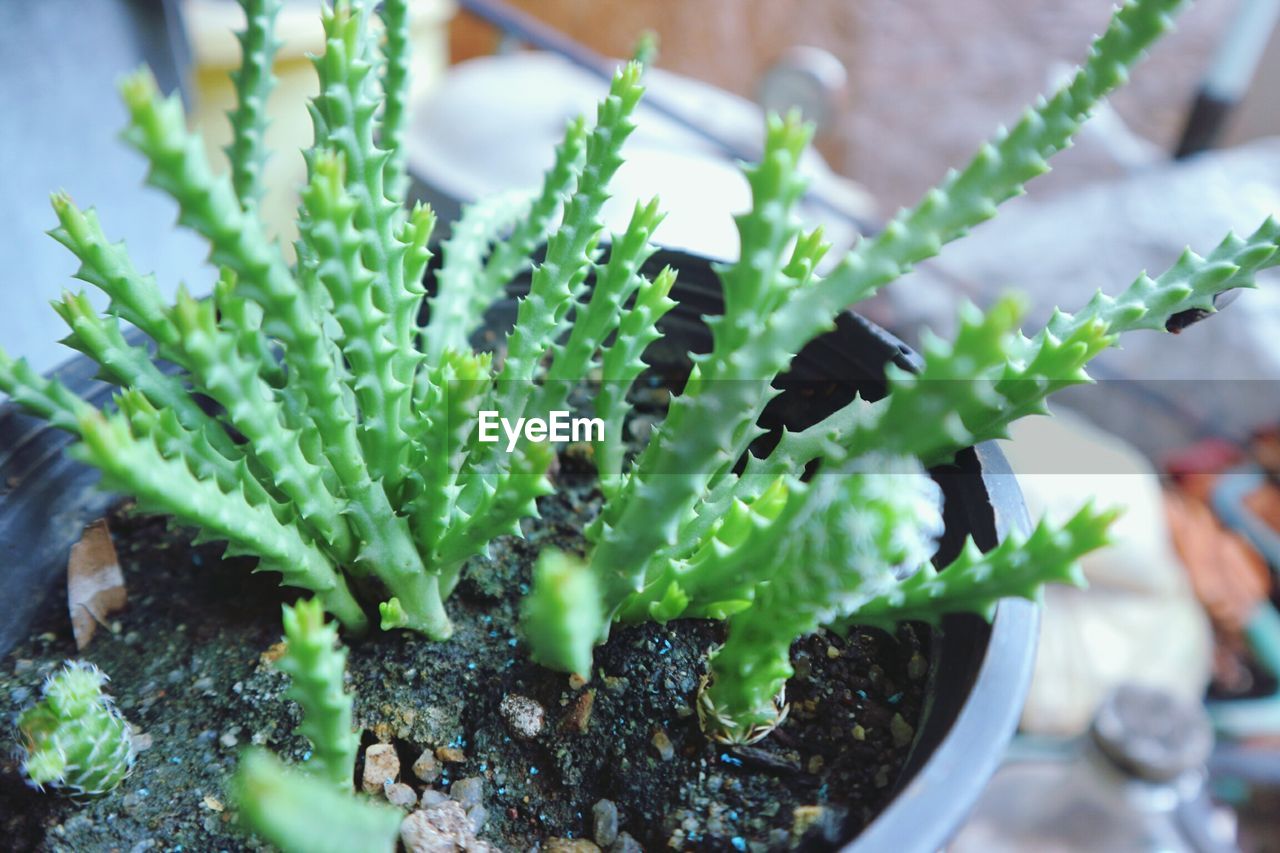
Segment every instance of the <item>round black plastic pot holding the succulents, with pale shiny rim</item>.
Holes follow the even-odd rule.
[[[680,269],[673,296],[680,305],[664,321],[666,337],[649,360],[659,370],[687,370],[685,352],[710,345],[704,315],[721,310],[719,284],[709,264],[698,257],[659,252],[650,265]],[[518,288],[517,288],[518,289]],[[509,325],[513,300],[489,315],[493,328]],[[892,336],[845,314],[832,333],[801,352],[787,387],[765,414],[765,421],[800,425],[847,400],[855,389],[883,393],[890,361],[904,368],[915,356]],[[59,378],[72,391],[102,403],[110,388],[93,378],[84,357],[68,361]],[[799,393],[797,393],[799,392]],[[42,421],[0,407],[0,653],[29,630],[32,615],[63,575],[68,551],[84,524],[101,516],[118,498],[97,492],[97,474],[67,459],[70,438]],[[992,547],[1011,529],[1025,529],[1027,511],[1004,456],[995,446],[960,455],[955,466],[934,471],[946,496],[947,533],[943,557],[959,549],[965,535]],[[995,771],[1018,721],[1030,679],[1037,611],[1024,601],[1000,606],[987,625],[972,616],[948,617],[931,642],[929,698],[915,743],[887,808],[852,840],[847,850],[922,850],[942,847],[973,806]],[[847,840],[833,827],[829,840]]]

